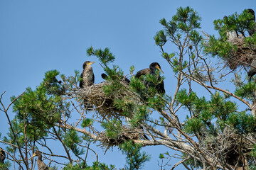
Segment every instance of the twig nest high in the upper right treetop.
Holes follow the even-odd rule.
[[[256,48],[245,47],[242,38],[235,38],[231,43],[236,45],[238,50],[232,50],[230,54],[224,58],[230,69],[235,70],[238,67],[247,67],[247,64],[251,64],[256,56]]]

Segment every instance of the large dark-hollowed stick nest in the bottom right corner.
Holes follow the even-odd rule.
[[[226,127],[223,132],[218,133],[216,137],[208,138],[205,140],[206,149],[211,154],[214,154],[215,157],[219,157],[217,155],[219,152],[223,154],[223,157],[220,159],[225,160],[228,164],[232,166],[242,167],[247,164],[246,162],[251,162],[255,158],[252,156],[251,152],[253,149],[253,143],[256,142],[255,134],[242,136],[238,135],[231,128]],[[216,149],[218,147],[218,149]]]

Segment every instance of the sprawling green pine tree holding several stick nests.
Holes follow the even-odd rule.
[[[160,72],[137,79],[132,66],[125,81],[122,69],[111,65],[115,57],[109,48],[89,47],[87,55],[99,60],[106,81],[80,89],[78,71],[66,77],[51,70],[35,90],[13,96],[9,106],[0,100],[10,125],[1,140],[6,153],[19,169],[31,169],[35,162],[29,158],[42,148],[43,161],[52,169],[57,167],[51,162],[61,166],[56,157],[63,158],[64,169],[114,169],[98,159],[88,165],[88,152],[97,157],[91,145],[100,142],[106,150],[122,150],[127,164],[121,168],[142,169],[150,158],[142,147],[164,145],[181,153],[176,156],[181,161],[170,169],[255,169],[256,85],[255,79],[244,79],[256,56],[256,35],[247,33],[255,28],[252,18],[245,10],[215,20],[216,37],[201,30],[201,17],[193,8],[178,8],[170,21],[162,18],[163,30],[154,40],[173,70],[165,76],[176,84],[166,94],[144,85],[145,80],[155,85],[164,81]],[[235,38],[230,39],[231,34]],[[235,90],[223,84],[229,77]],[[85,98],[94,106],[92,111],[86,111]],[[9,119],[10,106],[14,120]],[[74,120],[74,115],[79,118]],[[65,154],[51,151],[48,142],[53,140]],[[161,168],[171,157],[169,152],[159,155]]]

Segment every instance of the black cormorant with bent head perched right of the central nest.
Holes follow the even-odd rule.
[[[151,74],[151,75],[157,77],[157,80],[160,81],[161,77],[160,77],[160,75],[156,75],[156,69],[158,69],[159,71],[161,71],[164,74],[164,72],[161,70],[160,64],[157,63],[157,62],[152,62],[149,65],[149,68],[140,70],[139,72],[137,72],[135,77],[139,78],[142,75]],[[144,80],[144,85],[146,86],[146,89],[149,89],[149,87],[155,87],[156,91],[159,94],[165,94],[164,81],[161,81],[159,84],[154,84],[153,82],[148,81],[148,80],[145,79]],[[144,100],[146,100],[146,96],[142,95],[142,98]]]

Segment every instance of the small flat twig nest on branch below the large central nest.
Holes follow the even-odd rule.
[[[117,133],[116,137],[108,137],[105,131],[102,131],[97,135],[97,139],[102,142],[102,147],[110,147],[119,146],[120,144],[129,141],[129,140],[139,140],[142,138],[142,129],[141,128],[130,128],[125,125],[122,125],[122,130]]]

